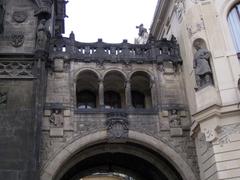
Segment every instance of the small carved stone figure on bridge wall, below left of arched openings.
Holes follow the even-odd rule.
[[[62,111],[58,109],[52,110],[49,122],[52,127],[62,128],[64,123]]]

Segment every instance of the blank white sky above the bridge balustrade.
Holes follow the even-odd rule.
[[[158,0],[70,0],[66,5],[65,37],[73,31],[80,42],[134,43],[136,26],[149,29]]]

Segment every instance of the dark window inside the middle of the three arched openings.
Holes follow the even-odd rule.
[[[121,96],[114,91],[104,93],[104,104],[107,109],[121,108]]]

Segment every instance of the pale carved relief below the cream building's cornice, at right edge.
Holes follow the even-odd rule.
[[[218,127],[216,132],[218,133],[219,137],[217,143],[219,143],[220,146],[223,146],[224,144],[231,142],[231,135],[240,134],[240,123]]]

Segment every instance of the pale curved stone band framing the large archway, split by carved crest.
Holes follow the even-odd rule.
[[[73,157],[74,154],[94,144],[103,142],[106,143],[106,140],[106,131],[96,132],[94,134],[86,135],[78,139],[74,138],[61,149],[59,149],[59,151],[56,152],[55,155],[48,160],[42,169],[41,180],[53,180],[54,176],[58,173],[63,164],[67,162],[71,157]],[[164,142],[152,136],[136,131],[129,131],[127,141],[141,144],[142,146],[150,148],[159,153],[159,155],[166,158],[175,167],[175,169],[179,172],[184,180],[197,180],[191,167],[176,151],[174,151]]]

